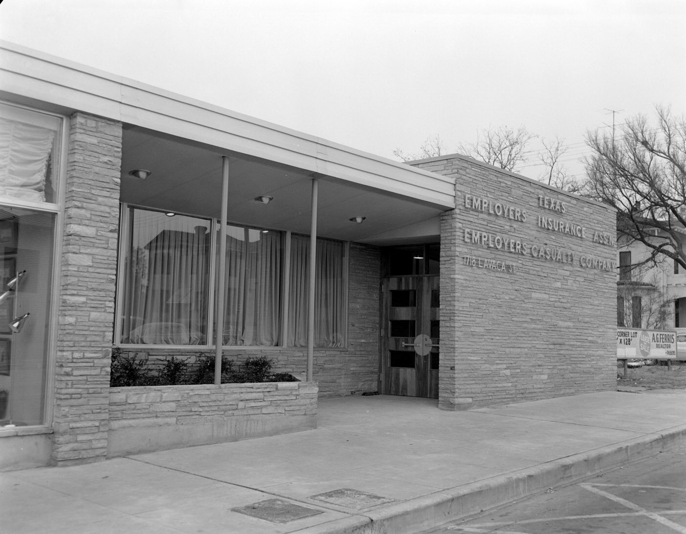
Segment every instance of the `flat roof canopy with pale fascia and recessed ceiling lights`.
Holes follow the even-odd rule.
[[[0,87],[18,104],[121,121],[123,202],[217,217],[229,156],[237,223],[309,232],[311,178],[320,180],[318,234],[334,239],[435,240],[440,213],[455,207],[452,178],[2,41]],[[147,180],[128,175],[141,168]],[[357,216],[364,223],[348,220]]]

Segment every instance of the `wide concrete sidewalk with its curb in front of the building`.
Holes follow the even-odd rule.
[[[0,473],[0,531],[416,533],[684,438],[686,390],[324,399],[316,430]]]

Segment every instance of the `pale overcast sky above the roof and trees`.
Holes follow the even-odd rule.
[[[387,158],[525,125],[579,173],[608,110],[686,111],[684,0],[4,0],[0,38]]]

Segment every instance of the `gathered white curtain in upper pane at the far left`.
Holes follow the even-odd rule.
[[[0,195],[45,202],[54,139],[53,130],[0,119]]]

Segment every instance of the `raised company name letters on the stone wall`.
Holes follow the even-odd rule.
[[[539,195],[538,204],[540,208],[552,210],[560,214],[565,214],[569,211],[569,205],[567,203],[543,195]],[[530,217],[530,213],[527,213],[523,208],[517,208],[510,204],[497,202],[485,197],[477,197],[475,195],[464,195],[464,207],[469,210],[510,219],[517,223],[525,223],[527,217]],[[545,230],[552,230],[559,234],[578,237],[579,239],[590,238],[594,243],[602,245],[611,245],[613,247],[615,245],[614,236],[611,236],[607,232],[591,232],[584,226],[561,221],[554,217],[539,215],[536,226]],[[482,230],[476,230],[475,228],[463,228],[462,232],[464,243],[476,245],[477,247],[508,252],[517,256],[529,256],[556,263],[576,264],[584,269],[614,271],[617,267],[617,262],[615,260],[583,254],[549,243],[528,243],[504,234],[484,232]],[[465,265],[470,265],[470,263],[471,262],[465,262]]]

